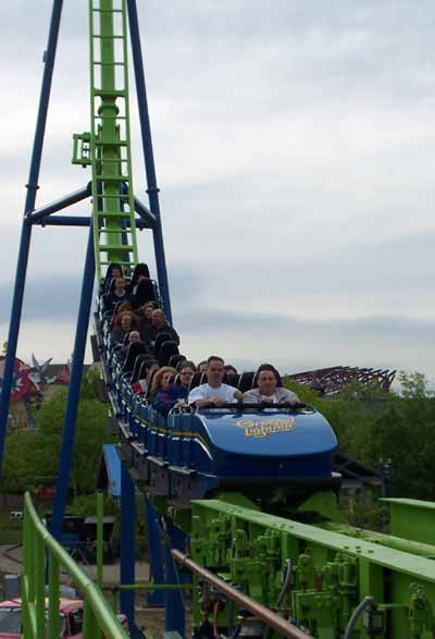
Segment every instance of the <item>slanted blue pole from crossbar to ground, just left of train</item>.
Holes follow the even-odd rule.
[[[51,520],[51,532],[53,537],[55,537],[57,539],[60,539],[61,537],[62,521],[65,513],[69,493],[71,466],[73,462],[76,419],[78,410],[78,400],[80,396],[83,364],[85,359],[86,340],[88,335],[90,307],[92,304],[94,282],[94,229],[92,226],[89,226],[88,246],[86,250],[85,270],[83,274],[80,303],[78,308],[77,328],[75,333],[73,351],[73,364],[71,368],[71,379],[69,396],[66,402],[65,419],[63,422],[62,445],[59,458],[59,472],[58,483],[55,487],[53,517]]]

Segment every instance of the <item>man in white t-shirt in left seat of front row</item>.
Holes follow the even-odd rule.
[[[225,374],[224,365],[222,357],[215,355],[209,357],[207,360],[207,384],[201,384],[190,391],[188,404],[195,404],[197,408],[207,408],[235,404],[243,398],[240,391],[222,383]]]

